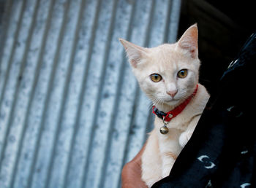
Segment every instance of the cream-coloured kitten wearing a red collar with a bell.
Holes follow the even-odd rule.
[[[140,88],[153,102],[157,114],[141,157],[141,178],[148,187],[169,175],[210,97],[198,83],[197,38],[195,24],[174,44],[146,48],[119,39]]]

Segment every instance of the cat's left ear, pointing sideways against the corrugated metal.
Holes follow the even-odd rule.
[[[141,60],[143,58],[146,58],[148,49],[144,47],[140,47],[124,39],[119,38],[119,41],[121,42],[121,44],[123,44],[124,49],[127,52],[129,63],[132,65],[132,67],[136,68],[138,64],[141,63]]]

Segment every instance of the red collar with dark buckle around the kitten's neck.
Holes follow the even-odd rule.
[[[197,87],[195,87],[194,93],[192,93],[192,95],[190,95],[189,98],[187,98],[183,103],[178,105],[175,109],[165,113],[163,111],[159,111],[159,109],[157,109],[156,106],[153,106],[152,107],[152,112],[154,114],[156,114],[157,117],[161,118],[162,120],[165,120],[165,122],[170,122],[170,120],[172,120],[173,117],[176,117],[178,114],[181,113],[181,111],[183,111],[186,108],[187,104],[191,101],[191,99],[197,93],[197,89],[198,89],[198,85],[197,85]]]

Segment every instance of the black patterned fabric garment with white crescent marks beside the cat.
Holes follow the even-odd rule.
[[[153,187],[256,187],[256,34],[219,83],[170,176]]]

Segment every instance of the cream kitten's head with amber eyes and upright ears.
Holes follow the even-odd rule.
[[[176,106],[193,93],[200,67],[196,24],[175,44],[145,48],[119,40],[141,89],[153,103]]]

